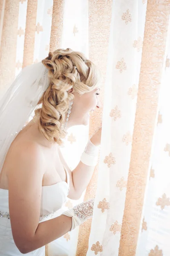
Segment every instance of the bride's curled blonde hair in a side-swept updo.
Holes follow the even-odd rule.
[[[37,103],[42,106],[35,110],[35,117],[46,139],[62,145],[67,134],[63,130],[65,117],[74,99],[68,90],[73,87],[79,94],[94,90],[101,81],[101,73],[83,53],[69,48],[49,52],[42,63],[48,69],[49,87]]]

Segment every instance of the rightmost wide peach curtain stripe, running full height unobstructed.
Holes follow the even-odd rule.
[[[121,229],[120,256],[135,256],[164,74],[170,1],[147,1],[138,99]]]

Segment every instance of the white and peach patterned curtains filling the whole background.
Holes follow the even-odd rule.
[[[79,200],[95,197],[93,218],[46,256],[169,256],[170,0],[1,0],[0,98],[22,67],[59,47],[84,52],[103,74],[101,109],[62,148],[71,169],[101,123],[102,137]]]

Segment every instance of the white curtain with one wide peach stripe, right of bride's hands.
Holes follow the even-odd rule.
[[[170,2],[113,1],[87,256],[170,254],[169,14]]]

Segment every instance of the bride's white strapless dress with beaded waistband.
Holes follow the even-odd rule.
[[[40,222],[55,218],[63,212],[62,206],[69,193],[69,174],[66,171],[67,183],[58,182],[52,186],[43,186],[41,195]],[[58,240],[58,239],[57,239]],[[55,240],[55,241],[57,241]],[[58,241],[57,241],[58,243]],[[53,242],[54,244],[54,242]],[[58,243],[60,244],[60,243]],[[50,245],[50,244],[49,244]],[[61,245],[62,247],[62,245]],[[57,252],[50,253],[50,256],[67,255]],[[60,250],[60,249],[59,249]],[[12,229],[9,216],[9,195],[8,190],[0,189],[0,256],[20,256],[23,255],[17,249],[12,236]],[[45,256],[45,246],[26,253],[26,256]]]

